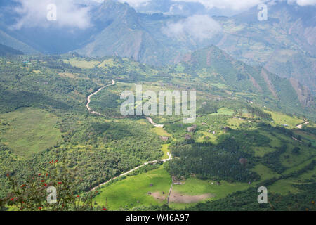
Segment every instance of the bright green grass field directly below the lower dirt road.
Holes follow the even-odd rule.
[[[153,186],[150,186],[153,184]],[[171,177],[163,166],[145,174],[127,176],[110,186],[100,188],[93,201],[109,210],[128,210],[133,207],[163,205],[166,200],[157,200],[148,192],[159,192],[166,197],[171,186]],[[105,205],[107,203],[107,205]],[[127,206],[127,207],[126,207]]]

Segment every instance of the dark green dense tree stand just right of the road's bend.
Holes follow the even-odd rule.
[[[169,172],[173,176],[197,174],[200,179],[227,181],[256,181],[258,174],[251,172],[251,165],[242,165],[240,158],[251,158],[239,152],[232,139],[225,139],[218,146],[211,143],[177,144],[171,147],[174,160],[169,162]]]

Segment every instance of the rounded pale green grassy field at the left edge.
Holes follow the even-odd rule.
[[[58,117],[35,108],[20,108],[0,115],[1,142],[15,153],[30,156],[61,141]],[[3,123],[9,125],[4,125]]]

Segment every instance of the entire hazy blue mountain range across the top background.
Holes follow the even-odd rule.
[[[190,51],[215,45],[244,63],[291,78],[293,84],[308,86],[315,95],[315,6],[298,6],[285,1],[270,3],[268,20],[259,21],[257,7],[231,17],[212,17],[216,13],[202,11],[197,4],[195,7],[199,10],[193,11],[193,7],[187,14],[147,14],[129,4],[105,0],[88,6],[91,26],[84,30],[56,25],[50,29],[13,30],[11,27],[20,17],[12,10],[17,3],[3,4],[0,44],[24,53],[75,51],[84,56],[121,56],[149,65],[166,65],[179,63]],[[169,4],[170,1],[166,1],[165,7]],[[82,3],[79,6],[86,7]]]

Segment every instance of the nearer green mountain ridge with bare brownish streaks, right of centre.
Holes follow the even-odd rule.
[[[288,113],[310,111],[315,107],[310,91],[299,82],[278,77],[262,67],[246,65],[216,46],[187,54],[176,65],[179,67],[202,82],[223,84],[231,96],[242,93],[250,101],[256,99],[272,108],[284,108]]]

